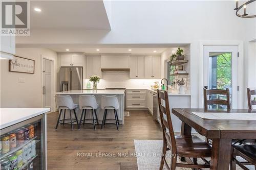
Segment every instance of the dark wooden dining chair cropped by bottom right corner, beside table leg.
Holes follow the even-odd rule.
[[[246,161],[238,161],[237,156],[242,157]],[[256,145],[232,145],[230,169],[235,170],[236,165],[239,165],[242,169],[249,170],[245,165],[254,165],[256,169]]]

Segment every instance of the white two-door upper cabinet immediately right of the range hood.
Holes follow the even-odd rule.
[[[144,78],[144,57],[130,57],[130,78],[143,79]]]

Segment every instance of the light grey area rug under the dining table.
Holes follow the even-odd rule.
[[[162,153],[162,140],[134,140],[135,152],[137,155],[138,170],[158,170]],[[167,154],[171,153],[167,151]],[[181,162],[178,159],[179,163]],[[254,166],[247,166],[254,170]],[[167,169],[164,167],[164,169]],[[179,170],[190,170],[190,168],[177,167]],[[239,166],[237,169],[242,170]]]

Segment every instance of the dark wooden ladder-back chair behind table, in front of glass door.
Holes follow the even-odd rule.
[[[209,98],[211,95],[217,95],[222,94],[226,95],[226,100],[222,99],[207,99],[207,95],[209,95]],[[204,88],[204,108],[208,109],[208,105],[226,105],[227,110],[230,110],[230,97],[229,97],[229,89],[226,88],[226,90],[220,90],[220,89],[210,89],[207,90]]]

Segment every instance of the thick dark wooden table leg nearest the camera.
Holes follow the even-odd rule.
[[[229,169],[232,139],[213,139],[210,169]]]

